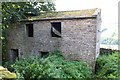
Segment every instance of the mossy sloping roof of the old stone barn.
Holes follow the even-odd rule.
[[[77,18],[95,18],[100,12],[100,9],[86,9],[86,10],[74,10],[74,11],[58,11],[47,12],[40,16],[29,17],[21,21],[38,21],[38,20],[61,20],[61,19],[77,19]]]

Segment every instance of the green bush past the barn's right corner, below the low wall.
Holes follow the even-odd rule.
[[[96,70],[99,78],[118,78],[118,52],[100,56],[96,62]]]

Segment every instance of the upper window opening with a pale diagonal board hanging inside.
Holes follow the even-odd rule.
[[[51,26],[51,36],[61,37],[61,22],[52,22]]]

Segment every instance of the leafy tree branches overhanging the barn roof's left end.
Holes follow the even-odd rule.
[[[2,21],[8,26],[20,19],[25,19],[26,14],[40,15],[42,12],[54,11],[52,2],[2,2]]]

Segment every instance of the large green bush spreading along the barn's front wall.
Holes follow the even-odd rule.
[[[47,57],[29,55],[12,65],[18,78],[90,78],[92,69],[85,62],[69,62],[56,51]]]

